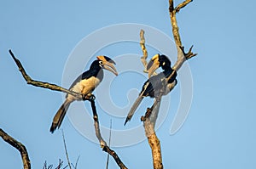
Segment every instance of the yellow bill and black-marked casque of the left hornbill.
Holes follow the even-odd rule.
[[[113,59],[108,58],[107,56],[97,56],[100,66],[102,69],[111,71],[115,76],[118,76],[118,72],[115,69],[115,62]]]

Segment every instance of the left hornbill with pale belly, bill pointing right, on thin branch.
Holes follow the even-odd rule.
[[[76,93],[83,93],[84,95],[92,93],[99,83],[102,82],[102,69],[109,70],[116,76],[118,75],[118,72],[114,67],[115,63],[113,59],[110,59],[107,56],[97,56],[96,58],[97,59],[90,65],[90,69],[84,71],[84,73],[73,82],[71,87],[69,87],[69,90]],[[54,132],[57,127],[61,127],[61,122],[67,113],[69,105],[75,100],[79,99],[71,94],[66,95],[66,100],[55,114],[49,132]]]

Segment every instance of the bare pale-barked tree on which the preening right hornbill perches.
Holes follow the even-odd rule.
[[[172,66],[172,69],[176,71],[182,67],[183,63],[186,60],[196,55],[192,53],[193,46],[189,48],[188,53],[184,52],[184,47],[181,42],[181,38],[179,35],[178,26],[177,26],[177,19],[176,19],[176,14],[180,11],[180,9],[184,8],[187,4],[191,2],[192,0],[186,0],[183,3],[178,4],[177,7],[174,8],[173,0],[169,0],[169,13],[170,13],[171,24],[172,24],[172,34],[177,46],[177,62],[175,63],[175,65]],[[148,52],[147,52],[147,48],[145,47],[145,38],[144,38],[143,30],[140,32],[140,38],[141,38],[140,45],[143,51],[143,57],[141,58],[141,60],[145,67],[144,72],[147,72],[146,59],[148,58]],[[160,149],[160,140],[159,138],[157,138],[154,131],[154,126],[157,120],[159,109],[160,109],[160,102],[157,103],[156,100],[154,100],[153,106],[150,109],[148,108],[145,115],[142,116],[141,118],[141,120],[143,121],[143,127],[145,129],[145,135],[148,138],[148,144],[151,148],[154,169],[163,168],[162,155],[161,155],[161,149]]]

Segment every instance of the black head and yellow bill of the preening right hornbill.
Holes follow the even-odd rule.
[[[155,54],[152,59],[148,62],[147,70],[148,70],[148,78],[152,76],[155,70],[161,67],[163,70],[171,67],[171,61],[164,54]]]

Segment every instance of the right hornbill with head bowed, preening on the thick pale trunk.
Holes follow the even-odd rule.
[[[159,67],[164,71],[152,76],[154,71]],[[131,110],[126,117],[125,124],[126,122],[131,121],[132,115],[134,115],[138,105],[141,104],[144,97],[149,96],[150,98],[160,101],[161,96],[170,93],[172,88],[177,85],[177,72],[172,70],[171,61],[166,57],[166,55],[155,54],[148,62],[147,70],[148,81],[144,82],[141,93],[139,93],[135,103],[131,106]]]

